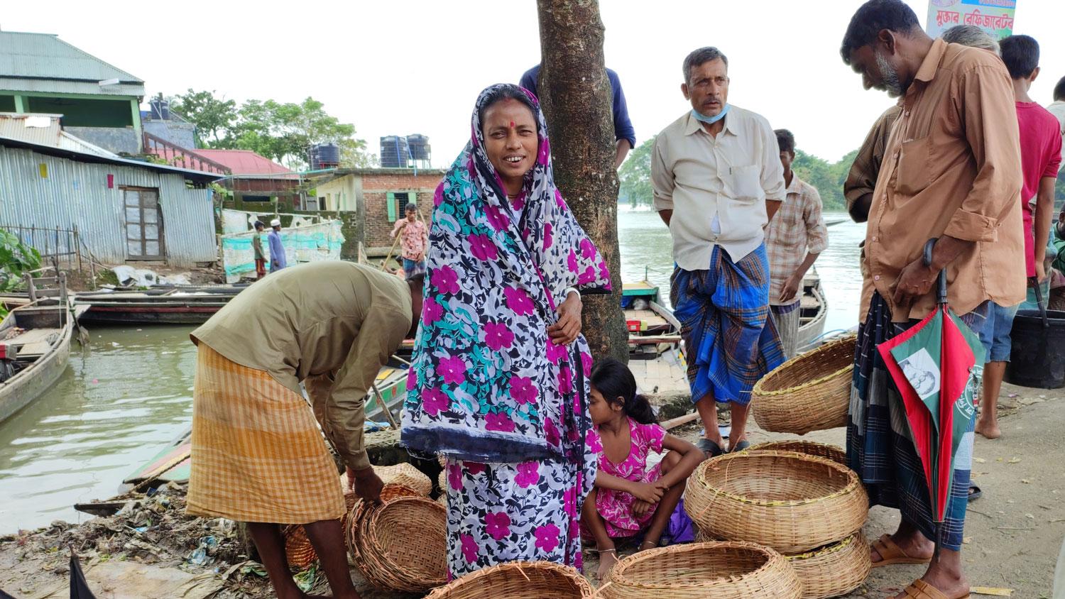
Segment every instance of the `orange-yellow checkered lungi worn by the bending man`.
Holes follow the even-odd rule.
[[[345,511],[337,465],[307,402],[199,344],[187,512],[302,525]]]

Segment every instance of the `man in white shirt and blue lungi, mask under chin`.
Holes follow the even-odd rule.
[[[765,228],[786,194],[773,129],[727,102],[728,59],[700,48],[684,78],[691,111],[655,140],[651,181],[673,236],[670,296],[705,428],[698,446],[712,456],[723,449],[714,402],[731,403],[730,451],[743,449],[751,388],[784,361],[768,318]]]

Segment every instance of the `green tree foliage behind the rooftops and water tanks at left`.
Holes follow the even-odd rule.
[[[290,168],[308,166],[308,153],[317,144],[341,148],[344,166],[364,167],[377,157],[366,151],[366,142],[355,137],[355,126],[341,122],[325,104],[308,97],[302,102],[248,100],[236,107],[214,91],[176,96],[171,107],[196,124],[200,142],[209,148],[251,150]]]

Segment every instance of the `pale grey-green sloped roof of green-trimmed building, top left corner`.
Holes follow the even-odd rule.
[[[15,80],[51,80],[56,85],[52,91],[63,91],[60,82],[88,82],[97,84],[97,91],[86,91],[79,86],[78,93],[101,95],[124,94],[115,88],[129,90],[129,86],[140,87],[144,95],[144,81],[96,56],[76,48],[49,33],[22,33],[0,31],[0,88],[9,88]],[[99,86],[98,82],[117,79],[119,85]],[[21,89],[21,87],[18,87]]]

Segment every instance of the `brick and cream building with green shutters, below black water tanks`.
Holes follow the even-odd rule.
[[[383,256],[392,247],[389,232],[415,202],[425,220],[444,170],[410,168],[338,169],[313,182],[320,211],[355,212],[357,237],[367,256]]]

